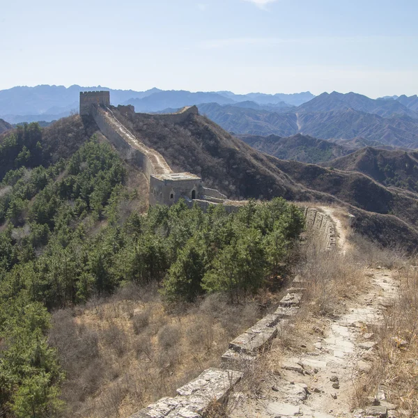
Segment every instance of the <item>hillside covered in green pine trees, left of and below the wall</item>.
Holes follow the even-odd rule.
[[[60,396],[62,353],[47,340],[53,309],[152,282],[167,302],[212,292],[238,302],[286,269],[303,229],[302,213],[283,199],[249,203],[236,214],[220,206],[204,213],[180,201],[143,215],[147,185],[132,187],[132,167],[106,141],[86,139],[75,119],[70,130],[68,121],[45,130],[33,123],[1,141],[3,417],[68,412],[64,401],[72,395]],[[67,144],[68,135],[84,141]]]

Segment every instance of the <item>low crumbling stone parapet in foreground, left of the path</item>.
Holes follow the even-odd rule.
[[[197,378],[177,389],[175,397],[161,398],[142,408],[130,418],[202,418],[213,402],[225,403],[251,362],[254,362],[289,321],[297,315],[305,290],[304,281],[295,277],[288,293],[274,313],[265,316],[254,326],[229,343],[221,357],[222,369],[207,369]]]

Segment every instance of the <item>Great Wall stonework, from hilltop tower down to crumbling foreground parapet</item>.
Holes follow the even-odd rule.
[[[187,107],[177,114],[159,115],[172,123],[180,123],[196,107]],[[139,167],[149,183],[149,203],[171,206],[183,198],[192,206],[198,204],[204,210],[209,205],[222,204],[226,210],[238,208],[239,203],[229,201],[224,194],[203,186],[199,176],[192,173],[173,173],[164,157],[148,148],[116,118],[111,110],[108,91],[80,93],[80,115],[92,116],[100,132],[130,162]],[[303,207],[307,234],[323,249],[336,247],[334,222],[318,208]],[[198,418],[213,401],[224,402],[231,389],[242,378],[239,364],[252,362],[269,346],[281,327],[297,314],[304,282],[296,277],[279,307],[273,314],[265,316],[229,344],[222,355],[222,368],[203,371],[195,380],[177,389],[177,396],[160,401],[140,410],[130,418]]]

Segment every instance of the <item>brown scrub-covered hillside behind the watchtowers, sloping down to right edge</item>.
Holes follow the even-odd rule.
[[[418,245],[417,194],[392,191],[362,173],[302,162],[286,162],[251,148],[200,115],[173,123],[164,115],[114,113],[147,146],[158,150],[176,171],[190,171],[231,198],[346,203],[364,233],[386,245],[403,240]],[[391,231],[382,235],[380,231]],[[401,234],[402,235],[399,235]]]

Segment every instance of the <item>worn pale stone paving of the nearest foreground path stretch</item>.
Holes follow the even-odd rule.
[[[380,405],[357,411],[350,408],[354,382],[370,371],[376,345],[373,334],[364,333],[366,325],[379,323],[385,306],[398,293],[390,274],[384,269],[366,272],[368,293],[353,302],[346,314],[329,320],[313,350],[281,359],[281,371],[266,379],[258,398],[234,394],[231,418],[395,417],[396,405],[387,403],[384,394],[380,394]]]

